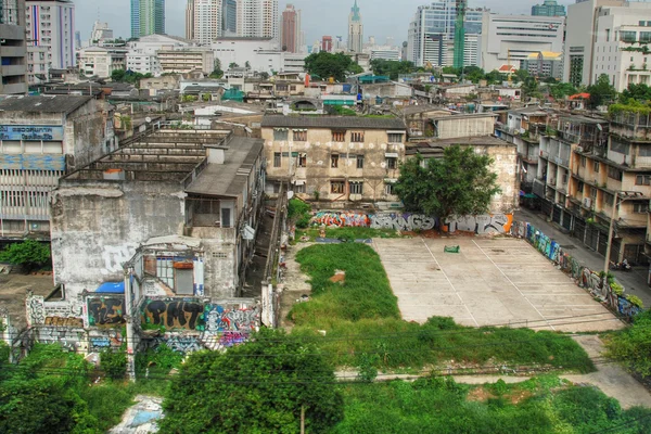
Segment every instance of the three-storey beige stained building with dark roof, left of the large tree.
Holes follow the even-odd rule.
[[[263,118],[267,194],[289,182],[306,200],[395,202],[405,158],[405,123],[355,116]]]

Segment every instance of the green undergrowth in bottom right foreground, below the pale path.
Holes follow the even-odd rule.
[[[651,410],[623,411],[615,399],[598,390],[572,386],[554,376],[514,385],[469,386],[442,378],[348,385],[344,400],[346,419],[335,434],[633,434],[651,430]]]

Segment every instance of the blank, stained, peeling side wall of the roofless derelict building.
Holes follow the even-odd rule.
[[[139,243],[181,234],[183,192],[176,182],[64,180],[52,197],[52,261],[66,298],[124,279]]]

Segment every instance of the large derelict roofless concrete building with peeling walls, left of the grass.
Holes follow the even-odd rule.
[[[226,130],[158,129],[69,174],[52,193],[54,282],[86,305],[142,243],[196,240],[201,260],[156,257],[150,294],[238,296],[263,203],[263,141]],[[86,311],[86,309],[84,309]]]

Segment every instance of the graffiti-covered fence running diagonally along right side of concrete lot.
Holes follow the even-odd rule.
[[[623,295],[623,288],[614,282],[604,285],[603,277],[599,271],[593,271],[584,266],[578,259],[567,254],[559,243],[547,237],[535,226],[515,221],[511,226],[511,235],[528,241],[538,252],[557,264],[559,269],[574,279],[579,288],[602,301],[618,317],[631,321],[642,308],[631,302],[628,295]]]

